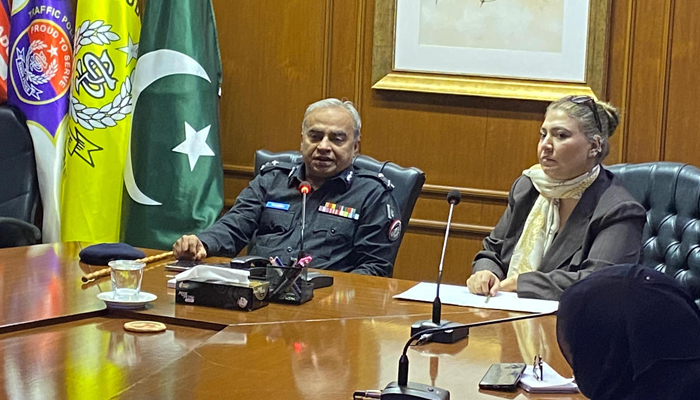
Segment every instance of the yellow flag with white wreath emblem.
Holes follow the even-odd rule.
[[[75,21],[61,239],[116,242],[141,33],[138,2],[79,0]]]

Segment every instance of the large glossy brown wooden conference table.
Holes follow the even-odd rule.
[[[430,318],[430,304],[392,298],[415,282],[343,273],[330,273],[335,284],[301,306],[176,305],[164,262],[147,267],[142,286],[158,299],[116,312],[96,297],[111,290],[109,278],[80,281],[100,268],[78,262],[81,248],[0,250],[0,398],[351,399],[355,390],[396,380],[411,323]],[[444,318],[460,323],[518,315],[443,307]],[[168,329],[124,331],[132,320]],[[447,389],[453,399],[583,399],[478,389],[492,363],[530,362],[537,353],[571,376],[555,324],[553,316],[499,323],[473,328],[453,345],[413,347],[409,379]]]

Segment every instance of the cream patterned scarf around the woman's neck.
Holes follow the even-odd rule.
[[[523,171],[540,195],[527,216],[523,233],[513,250],[508,277],[539,268],[542,257],[559,231],[559,199],[580,199],[599,173],[600,166],[596,165],[581,176],[560,181],[547,176],[539,164]]]

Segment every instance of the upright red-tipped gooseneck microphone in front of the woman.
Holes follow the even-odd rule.
[[[440,301],[440,284],[442,283],[442,267],[445,262],[445,250],[447,249],[447,238],[450,235],[450,225],[452,224],[452,211],[454,206],[459,204],[462,200],[462,194],[457,189],[452,189],[447,194],[447,202],[450,204],[450,213],[447,216],[447,227],[445,228],[445,240],[442,243],[442,254],[440,255],[440,266],[438,267],[438,279],[437,279],[437,290],[435,293],[435,300],[433,300],[433,315],[431,320],[417,321],[411,325],[411,335],[419,334],[427,329],[434,328],[445,328],[442,332],[435,333],[431,336],[433,342],[438,343],[454,343],[458,340],[464,339],[469,335],[468,329],[457,329],[458,324],[454,324],[450,321],[441,320],[440,316],[442,314],[442,302]],[[454,329],[450,329],[450,326],[454,325]]]

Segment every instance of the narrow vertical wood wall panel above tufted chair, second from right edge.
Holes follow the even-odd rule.
[[[630,98],[627,110],[626,160],[645,162],[662,157],[669,9],[673,0],[637,1]]]

